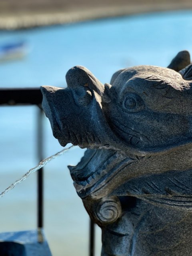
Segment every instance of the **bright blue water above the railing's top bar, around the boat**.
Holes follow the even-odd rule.
[[[64,86],[74,65],[102,82],[122,67],[166,66],[178,51],[192,49],[191,31],[192,11],[183,11],[0,32],[0,44],[22,39],[30,48],[24,61],[1,64],[0,86]]]

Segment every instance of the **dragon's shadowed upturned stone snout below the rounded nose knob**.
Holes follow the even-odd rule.
[[[107,122],[98,98],[88,86],[43,86],[41,90],[42,107],[54,137],[62,146],[72,143],[82,148],[98,148],[108,144]]]

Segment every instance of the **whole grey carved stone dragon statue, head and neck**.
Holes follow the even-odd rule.
[[[135,66],[102,84],[82,66],[68,87],[43,86],[42,106],[62,146],[88,148],[69,166],[102,228],[102,256],[192,255],[192,64]]]

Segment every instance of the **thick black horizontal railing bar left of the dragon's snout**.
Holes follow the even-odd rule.
[[[0,105],[40,105],[40,88],[0,88]]]

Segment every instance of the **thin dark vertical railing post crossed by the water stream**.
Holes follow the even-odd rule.
[[[43,160],[43,110],[39,108],[37,117],[37,152],[39,162]],[[43,168],[37,173],[37,226],[43,227],[43,208],[44,208],[44,194],[43,194]]]

